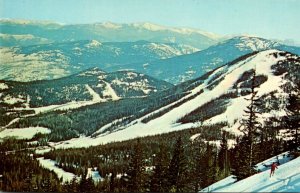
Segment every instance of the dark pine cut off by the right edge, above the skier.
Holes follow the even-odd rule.
[[[285,127],[293,137],[290,144],[290,150],[297,150],[300,145],[299,129],[300,129],[300,85],[289,94],[288,103],[286,105]]]

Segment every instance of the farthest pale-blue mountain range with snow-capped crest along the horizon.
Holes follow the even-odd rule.
[[[32,45],[37,39],[41,43],[92,40],[100,42],[127,42],[146,40],[151,42],[186,44],[198,49],[205,49],[219,41],[221,38],[190,28],[172,28],[152,23],[95,23],[63,25],[53,22],[39,22],[28,20],[0,20],[0,46]],[[12,35],[29,35],[32,41],[18,41],[17,44],[7,41]],[[6,38],[6,41],[4,41]]]

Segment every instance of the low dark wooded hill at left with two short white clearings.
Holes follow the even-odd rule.
[[[106,102],[145,97],[171,84],[130,71],[106,73],[93,68],[61,79],[34,82],[0,81],[1,106],[27,109],[78,101]]]

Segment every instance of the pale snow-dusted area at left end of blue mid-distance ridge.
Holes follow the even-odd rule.
[[[0,48],[1,79],[26,82],[47,79],[49,74],[53,76],[51,78],[70,74],[67,70],[69,57],[63,55],[60,50],[39,51],[32,54],[20,52],[19,47]]]

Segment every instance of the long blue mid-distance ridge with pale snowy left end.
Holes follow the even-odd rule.
[[[133,62],[150,62],[189,54],[198,49],[174,43],[85,40],[26,47],[0,48],[0,79],[33,81],[55,79],[82,70]]]

